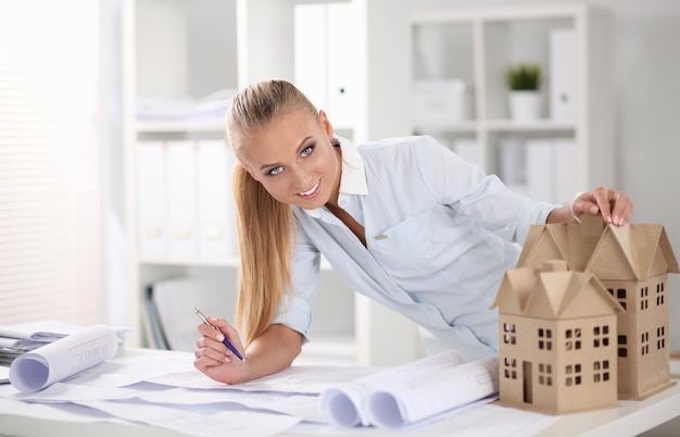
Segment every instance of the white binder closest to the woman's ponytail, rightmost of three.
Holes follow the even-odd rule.
[[[225,141],[201,141],[197,149],[198,254],[237,254],[236,207],[231,193],[234,155]]]

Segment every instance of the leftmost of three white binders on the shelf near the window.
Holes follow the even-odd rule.
[[[138,142],[138,241],[139,252],[142,255],[167,254],[165,172],[165,145],[162,141]]]

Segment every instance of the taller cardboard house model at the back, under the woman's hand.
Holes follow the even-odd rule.
[[[527,237],[517,267],[537,270],[549,260],[564,261],[567,270],[574,273],[594,275],[607,294],[618,302],[620,311],[616,311],[616,336],[608,344],[616,349],[618,398],[644,399],[671,386],[668,273],[679,273],[679,270],[663,225],[605,226],[600,216],[589,215],[582,216],[581,224],[534,225]],[[506,292],[509,291],[502,288],[496,298],[501,328],[504,320],[515,311],[502,299],[502,295]],[[545,294],[557,294],[557,290],[545,290]],[[595,301],[600,298],[591,299]],[[543,317],[554,316],[545,311]],[[568,316],[576,317],[577,314]],[[594,315],[584,313],[582,316],[583,322],[587,322]],[[604,325],[600,326],[601,329],[604,328]],[[600,333],[604,335],[602,330]],[[503,334],[501,333],[502,336]],[[585,334],[585,327],[581,328],[581,335]],[[563,340],[566,341],[566,338]],[[504,358],[503,346],[501,341],[501,364]],[[537,352],[527,351],[522,357],[533,357],[533,353]],[[591,352],[582,349],[582,353]],[[583,361],[584,358],[580,360]],[[568,364],[567,360],[562,365]],[[582,367],[582,371],[585,370]],[[579,395],[579,398],[583,400],[584,396]]]

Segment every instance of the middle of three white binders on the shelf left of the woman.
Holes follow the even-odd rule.
[[[193,258],[197,254],[196,141],[167,143],[168,254]]]

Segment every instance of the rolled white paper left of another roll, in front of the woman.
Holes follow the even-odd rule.
[[[464,362],[463,355],[454,350],[449,350],[378,372],[342,386],[331,387],[322,392],[319,398],[322,415],[335,425],[369,425],[365,402],[374,392],[399,382],[411,382],[426,375],[439,374]]]

